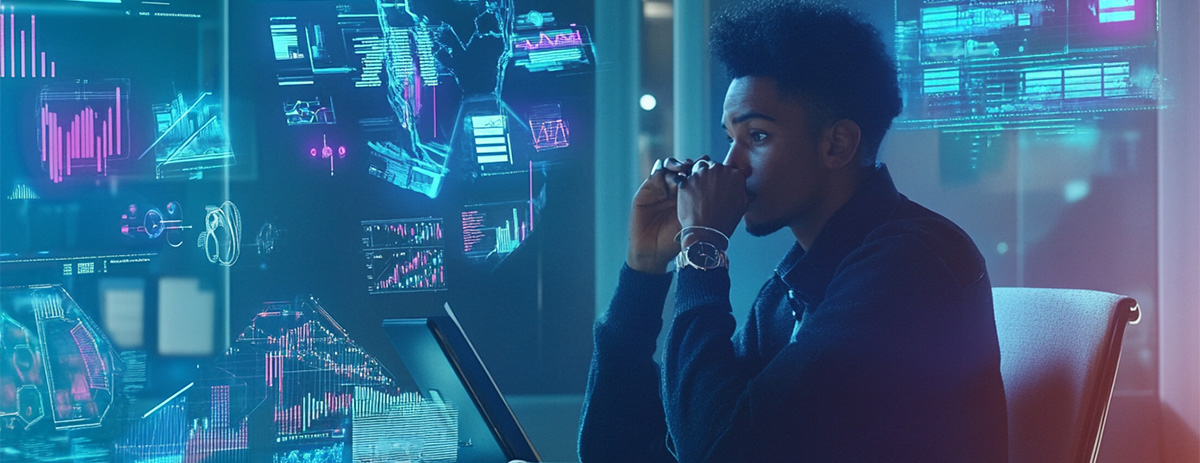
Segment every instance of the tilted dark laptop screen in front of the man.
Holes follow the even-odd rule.
[[[446,315],[384,320],[421,395],[458,410],[460,463],[540,461],[450,306]]]

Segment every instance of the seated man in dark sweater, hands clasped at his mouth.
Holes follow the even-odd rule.
[[[581,459],[1007,461],[984,259],[875,162],[901,104],[878,31],[844,7],[760,0],[714,22],[712,52],[732,78],[730,150],[660,161],[635,196]],[[725,249],[743,220],[797,242],[734,333]]]

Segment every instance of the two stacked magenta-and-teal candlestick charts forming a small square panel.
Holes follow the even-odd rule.
[[[362,222],[367,293],[446,289],[440,218]]]

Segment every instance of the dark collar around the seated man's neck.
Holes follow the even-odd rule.
[[[824,300],[834,271],[872,229],[882,224],[901,203],[887,166],[878,163],[858,191],[838,209],[805,251],[799,242],[784,255],[775,273],[805,303]]]

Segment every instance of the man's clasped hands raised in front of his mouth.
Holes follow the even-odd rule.
[[[638,271],[664,273],[679,253],[676,235],[684,227],[706,227],[732,235],[745,214],[745,176],[738,169],[698,161],[658,161],[634,196],[626,264]],[[716,234],[689,228],[682,242],[704,240],[726,246]]]

